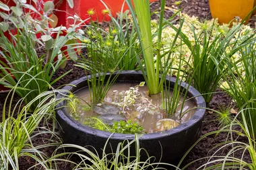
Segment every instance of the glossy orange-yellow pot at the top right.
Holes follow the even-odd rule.
[[[253,9],[255,0],[209,0],[213,18],[218,18],[220,24],[228,24],[235,17],[245,19]],[[248,23],[249,18],[245,24]]]

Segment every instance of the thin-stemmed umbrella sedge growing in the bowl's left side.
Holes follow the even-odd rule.
[[[93,9],[88,11],[88,15],[94,15]],[[104,37],[102,35],[104,31],[99,30],[99,26],[94,24],[92,19],[90,19],[90,25],[86,27],[90,40],[84,41],[82,46],[87,49],[87,56],[82,55],[75,66],[85,69],[90,100],[95,105],[102,103],[111,85],[117,79],[119,75],[117,70],[125,53],[117,51],[119,46],[113,40],[113,31],[111,33],[110,30],[110,34],[106,33],[106,37]],[[115,73],[115,71],[117,72]]]

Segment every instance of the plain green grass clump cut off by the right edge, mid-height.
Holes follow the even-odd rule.
[[[238,51],[240,58],[225,58],[228,63],[227,70],[230,75],[224,77],[227,86],[226,91],[232,96],[236,105],[244,114],[249,132],[256,135],[256,47],[254,38],[249,43],[241,46]]]

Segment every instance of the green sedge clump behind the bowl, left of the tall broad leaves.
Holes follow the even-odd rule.
[[[111,24],[109,24],[109,33],[106,32],[106,37],[113,37],[113,44],[117,46],[113,56],[117,56],[116,62],[119,61],[119,56],[122,56],[121,62],[119,62],[119,69],[125,71],[137,69],[137,57],[141,54],[141,48],[139,46],[139,41],[137,40],[137,32],[135,26],[133,25],[131,19],[129,18],[129,11],[124,11],[125,1],[121,7],[120,13],[117,17],[113,17],[110,9],[100,0],[106,7],[107,14],[111,19]]]

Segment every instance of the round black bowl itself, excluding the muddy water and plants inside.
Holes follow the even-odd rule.
[[[170,81],[173,87],[175,78],[166,77],[166,81]],[[144,81],[143,75],[138,71],[122,71],[117,77],[117,82],[138,82]],[[71,82],[73,86],[65,86],[63,89],[71,92],[78,91],[88,87],[87,78],[82,77],[76,81]],[[185,83],[181,83],[182,88],[186,88]],[[199,138],[201,133],[201,125],[203,116],[205,114],[205,100],[201,94],[193,87],[189,87],[187,94],[188,97],[193,97],[193,102],[197,106],[195,114],[185,123],[166,130],[164,132],[156,132],[152,134],[143,134],[139,138],[139,146],[145,148],[150,156],[156,157],[156,161],[161,159],[164,163],[173,163],[175,160],[180,159],[187,150],[193,145],[193,143]],[[61,95],[59,95],[61,97]],[[61,102],[57,107],[65,106],[65,101]],[[133,134],[112,134],[110,132],[104,132],[96,130],[88,126],[84,126],[79,122],[76,122],[69,116],[67,109],[62,107],[57,110],[57,121],[62,129],[62,137],[65,143],[78,144],[80,146],[94,146],[99,155],[102,155],[102,149],[105,142],[108,140],[109,144],[106,147],[106,153],[111,153],[111,147],[115,152],[115,148],[119,142],[123,140],[133,140]],[[111,147],[110,147],[111,145]],[[131,149],[135,151],[135,149]],[[131,153],[134,154],[135,153]],[[162,158],[161,158],[162,157]],[[141,155],[141,159],[147,159],[146,154]]]

